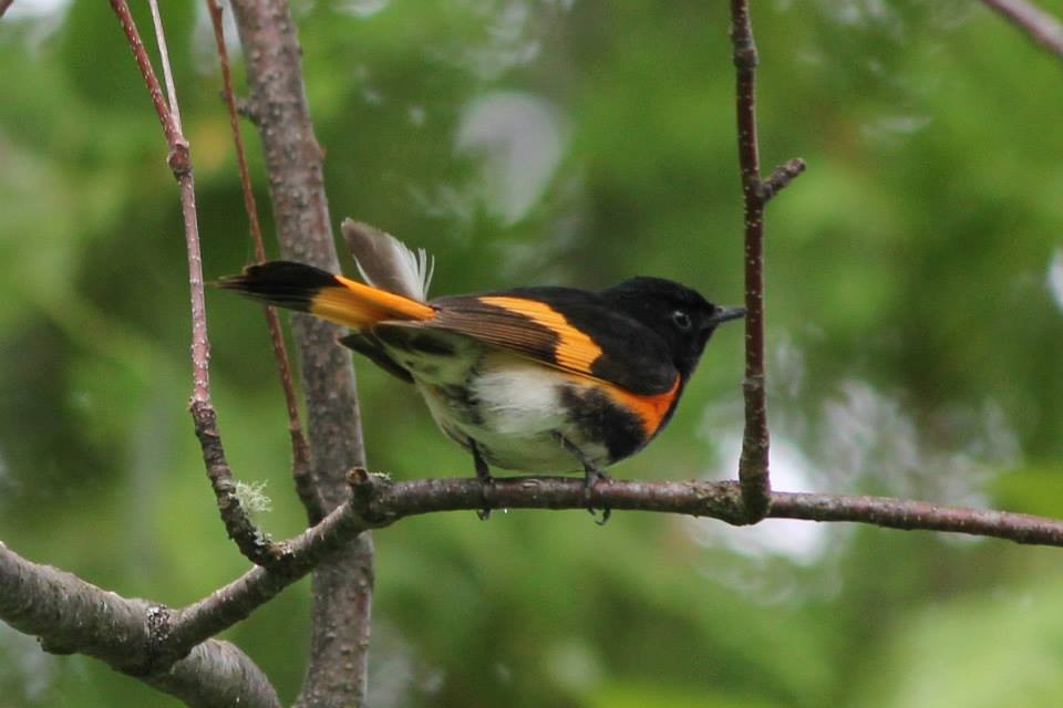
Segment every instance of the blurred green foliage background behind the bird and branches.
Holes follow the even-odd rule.
[[[132,3],[149,34],[145,3]],[[296,0],[334,223],[436,257],[435,294],[641,273],[742,298],[726,3]],[[1063,2],[1042,3],[1063,14]],[[208,278],[251,258],[202,3],[164,3]],[[1063,513],[1063,65],[973,0],[764,0],[772,462],[786,490]],[[235,43],[235,74],[242,84]],[[0,21],[0,539],[183,605],[247,570],[186,412],[177,188],[105,3]],[[271,253],[257,137],[245,125]],[[347,263],[350,268],[350,263]],[[208,293],[229,458],[300,530],[259,309]],[[621,477],[726,479],[742,332]],[[469,475],[355,362],[372,469]],[[1060,550],[848,524],[473,512],[375,534],[371,705],[1057,706]],[[298,690],[305,581],[227,633]],[[0,625],[0,704],[176,706]]]

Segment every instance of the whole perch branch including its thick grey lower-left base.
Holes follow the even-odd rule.
[[[276,697],[270,698],[272,689],[260,671],[238,649],[209,637],[247,618],[322,560],[342,553],[369,528],[425,513],[478,510],[484,503],[481,482],[466,477],[392,482],[355,469],[350,483],[351,500],[318,525],[279,544],[282,553],[272,565],[256,566],[182,610],[118,597],[69,573],[24,561],[0,543],[0,618],[40,636],[47,650],[95,656],[193,706],[274,706]],[[587,504],[584,493],[582,481],[571,477],[498,478],[492,503],[507,509],[582,511]],[[746,523],[741,489],[730,481],[610,479],[595,487],[591,501],[612,509]],[[778,491],[771,493],[770,502],[768,517],[773,519],[850,521],[1063,546],[1063,521],[1022,513],[887,497]],[[234,676],[242,680],[240,695],[247,698],[241,700],[252,702],[217,698],[218,691],[231,690],[224,681]],[[209,700],[188,698],[199,694],[209,695]]]

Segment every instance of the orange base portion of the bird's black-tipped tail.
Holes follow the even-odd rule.
[[[427,320],[435,314],[435,309],[423,302],[342,275],[336,275],[336,281],[337,287],[322,288],[313,295],[311,313],[355,330],[384,320]]]

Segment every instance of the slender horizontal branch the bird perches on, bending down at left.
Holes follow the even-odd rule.
[[[309,573],[323,558],[345,548],[370,528],[406,517],[441,511],[481,510],[483,485],[468,477],[392,482],[357,468],[350,475],[349,502],[317,527],[286,541],[283,556],[270,568],[255,568],[210,596],[174,613],[176,648],[198,642],[245,620],[281,590]],[[496,478],[495,509],[586,510],[585,487],[571,477]],[[939,506],[889,497],[771,492],[768,518],[849,521],[923,531],[989,537],[1035,545],[1063,546],[1063,520],[1023,513]],[[741,487],[732,481],[647,481],[609,479],[592,492],[596,507],[681,513],[749,523]]]

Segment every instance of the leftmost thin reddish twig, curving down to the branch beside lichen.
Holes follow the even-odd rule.
[[[143,74],[144,82],[147,84],[152,103],[155,105],[155,112],[158,114],[163,133],[169,145],[167,162],[180,185],[180,211],[185,222],[188,285],[192,300],[193,393],[189,408],[196,435],[203,449],[207,476],[210,479],[221,520],[229,537],[236,541],[237,546],[250,561],[269,563],[277,556],[278,551],[266,539],[265,534],[255,528],[236,496],[236,482],[233,478],[233,471],[225,460],[225,450],[221,447],[221,437],[218,433],[217,414],[210,404],[210,343],[207,340],[207,313],[203,292],[203,259],[199,252],[195,180],[192,174],[188,142],[182,134],[174,113],[163,100],[158,80],[155,77],[155,71],[152,69],[152,62],[144,50],[144,42],[141,40],[140,32],[137,32],[128,6],[125,0],[111,0],[111,7],[118,17],[136,63],[141,67],[141,74]],[[158,28],[161,30],[162,25],[159,24]],[[158,46],[161,49],[166,46],[164,39],[159,39]],[[164,60],[163,63],[167,62],[168,60]],[[171,91],[171,100],[176,104],[177,96],[173,90]]]

